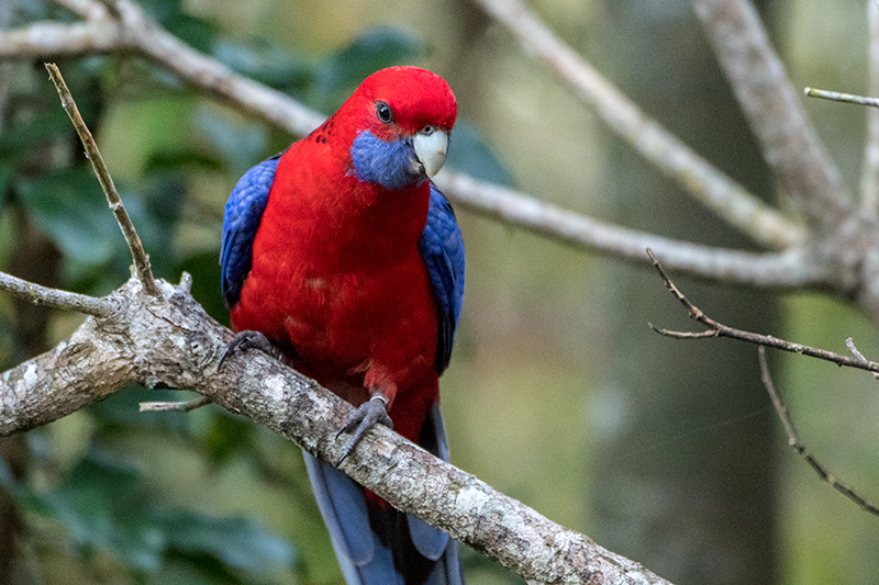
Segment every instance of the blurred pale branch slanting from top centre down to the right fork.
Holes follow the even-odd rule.
[[[576,50],[558,38],[520,0],[478,0],[527,49],[548,65],[594,109],[608,126],[685,191],[755,241],[783,249],[801,241],[799,226],[749,193],[700,157],[657,121],[648,117],[622,91]]]

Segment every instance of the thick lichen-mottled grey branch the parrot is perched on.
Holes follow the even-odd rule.
[[[232,333],[180,286],[160,301],[131,279],[110,297],[121,311],[89,317],[52,351],[0,374],[0,436],[62,418],[130,384],[198,392],[297,442],[324,461],[347,403],[259,351],[218,371]],[[537,583],[666,583],[589,538],[556,525],[385,427],[345,460],[354,480],[524,578]],[[590,581],[594,580],[594,581]],[[602,581],[603,580],[603,581]]]

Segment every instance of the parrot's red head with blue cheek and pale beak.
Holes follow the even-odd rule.
[[[401,189],[439,170],[456,116],[455,94],[442,77],[418,67],[390,67],[367,77],[334,117],[354,128],[348,143],[353,175]]]

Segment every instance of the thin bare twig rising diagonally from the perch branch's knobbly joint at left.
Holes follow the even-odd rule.
[[[110,177],[110,172],[103,164],[103,157],[101,157],[101,153],[98,149],[98,144],[94,142],[94,137],[91,135],[88,126],[86,126],[86,122],[82,120],[79,109],[76,106],[74,97],[70,94],[70,90],[67,89],[67,83],[64,82],[62,72],[55,64],[51,63],[46,64],[46,70],[48,70],[48,76],[58,90],[64,111],[67,112],[70,121],[74,123],[77,134],[79,134],[79,139],[82,140],[82,146],[86,148],[86,156],[91,161],[94,173],[98,176],[98,181],[101,183],[104,195],[107,195],[110,210],[113,212],[120,229],[122,229],[122,235],[125,236],[125,241],[129,245],[132,259],[134,260],[134,270],[141,281],[141,285],[144,292],[149,296],[159,296],[158,285],[156,285],[156,281],[153,278],[153,270],[149,268],[149,257],[144,251],[144,246],[141,243],[140,236],[137,236],[137,232],[134,229],[134,224],[132,224],[131,217],[129,217],[125,211],[125,205],[122,203],[119,192],[113,184],[113,179]]]

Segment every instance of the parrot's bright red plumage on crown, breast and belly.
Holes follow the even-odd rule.
[[[430,184],[364,182],[351,147],[365,131],[392,140],[425,125],[448,130],[457,112],[438,76],[382,74],[281,157],[232,324],[265,334],[355,405],[379,391],[394,429],[416,440],[438,393],[436,301],[418,248]],[[376,100],[394,124],[376,117]]]

